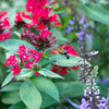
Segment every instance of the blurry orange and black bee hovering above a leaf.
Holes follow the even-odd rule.
[[[63,55],[66,57],[66,59],[70,59],[69,53],[59,45],[52,45],[53,49],[58,51],[58,53]]]

